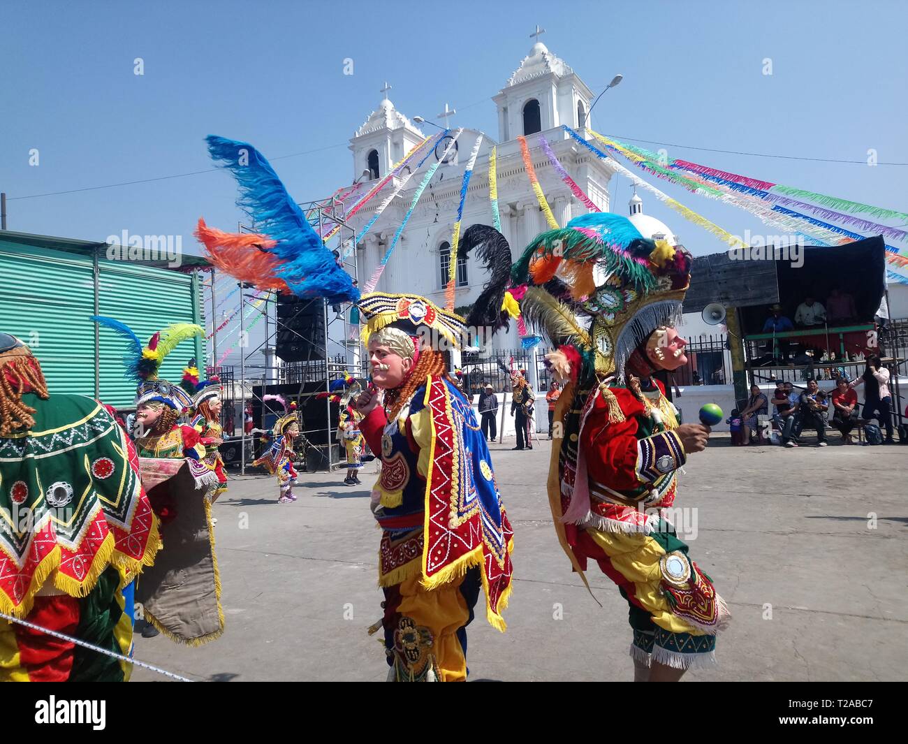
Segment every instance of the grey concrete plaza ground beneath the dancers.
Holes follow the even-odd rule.
[[[696,507],[690,554],[733,620],[718,666],[686,680],[908,678],[908,449],[831,440],[783,450],[717,436],[688,461],[676,506]],[[478,612],[470,679],[631,680],[627,604],[591,566],[599,608],[558,547],[548,441],[511,446],[492,452],[515,531],[508,631]],[[379,636],[366,634],[382,599],[373,469],[355,488],[343,471],[302,474],[299,501],[281,506],[270,478],[233,480],[214,507],[224,634],[198,649],[137,637],[136,659],[194,680],[384,680]],[[137,669],[133,680],[163,678]]]

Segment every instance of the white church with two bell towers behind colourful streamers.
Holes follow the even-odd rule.
[[[388,90],[386,84],[384,93],[387,94]],[[578,130],[581,136],[585,136],[585,125],[593,125],[592,119],[587,118],[593,99],[594,94],[587,84],[564,60],[549,52],[541,42],[537,41],[533,45],[505,86],[492,96],[498,107],[498,141],[488,135],[483,138],[479,158],[469,182],[461,234],[472,224],[492,224],[489,151],[493,145],[497,146],[501,232],[510,244],[514,260],[532,238],[548,229],[545,215],[524,170],[517,141],[520,134],[527,136],[539,184],[559,225],[565,225],[578,214],[587,213],[587,207],[570,193],[568,186],[551,167],[548,157],[538,144],[538,136],[531,135],[542,134],[565,170],[593,203],[603,212],[610,210],[608,189],[615,169],[577,144],[561,129],[562,124],[567,124]],[[375,181],[387,175],[393,164],[399,162],[414,145],[419,144],[426,134],[432,134],[432,131],[423,133],[387,97],[384,98],[350,138],[354,177],[360,174],[365,176],[364,172],[368,172],[368,177]],[[469,151],[478,134],[475,130],[465,129],[455,145],[457,149],[439,166],[381,274],[377,290],[418,293],[435,303],[444,304],[444,287],[449,276],[451,232],[457,218],[461,179]],[[436,162],[436,159],[441,159],[448,144],[449,138],[441,140],[423,168]],[[357,245],[357,276],[360,285],[380,263],[410,206],[421,180],[420,175],[414,174],[398,198],[382,213],[374,229]],[[390,189],[390,186],[386,186],[386,189]],[[364,207],[353,217],[351,225],[358,233],[369,222],[374,209],[374,206]],[[623,209],[612,211],[624,212]],[[665,238],[669,243],[677,244],[676,237],[664,223],[643,213],[643,202],[636,193],[628,204],[628,215],[644,236]],[[473,303],[487,280],[488,275],[475,256],[470,255],[465,259],[459,255],[455,304],[462,307]],[[519,348],[516,323],[511,323],[508,334],[496,335],[490,345],[492,349]]]

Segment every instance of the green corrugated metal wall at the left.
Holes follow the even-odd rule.
[[[104,253],[101,253],[104,256]],[[98,261],[98,312],[123,321],[147,342],[171,322],[199,322],[198,284],[191,274],[140,263]],[[29,343],[51,392],[94,397],[94,263],[91,256],[0,239],[0,331]],[[99,333],[100,398],[117,407],[133,402],[123,378],[126,344]],[[186,341],[163,363],[161,376],[180,382],[190,357],[204,364],[201,339]]]

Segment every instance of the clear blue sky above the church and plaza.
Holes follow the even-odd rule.
[[[496,94],[542,40],[596,92],[600,132],[670,144],[838,158],[812,163],[668,147],[672,156],[904,209],[908,4],[874,2],[35,2],[7,5],[0,46],[0,190],[9,228],[104,240],[240,218],[223,173],[64,193],[211,167],[202,138],[244,139],[300,201],[350,183],[347,140],[380,100],[497,136]],[[144,74],[133,74],[142,57]],[[343,74],[351,57],[354,74]],[[765,75],[770,58],[773,74]],[[658,145],[643,146],[656,149]],[[29,165],[37,148],[39,165]],[[646,180],[731,233],[761,224]],[[630,186],[613,184],[625,213]],[[647,197],[693,253],[722,243]],[[194,250],[194,249],[193,249]]]

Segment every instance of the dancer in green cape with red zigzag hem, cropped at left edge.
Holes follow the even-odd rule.
[[[128,656],[123,590],[160,547],[123,428],[91,398],[48,392],[29,348],[0,333],[0,611]],[[121,681],[131,670],[0,619],[2,681]]]

